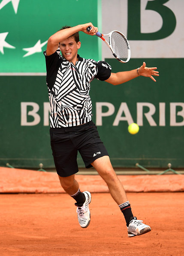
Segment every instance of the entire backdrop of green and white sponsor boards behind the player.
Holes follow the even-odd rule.
[[[184,54],[179,50],[183,49],[183,43],[178,32],[183,28],[181,2],[176,0],[174,8],[171,0],[148,1],[144,13],[150,9],[151,15],[159,13],[163,19],[163,26],[155,33],[141,32],[144,23],[142,1],[122,2],[128,3],[124,13],[133,55],[126,64],[116,59],[106,61],[112,66],[112,72],[135,69],[145,61],[148,67],[157,66],[160,76],[156,83],[150,78],[138,77],[117,86],[95,79],[90,91],[93,121],[113,166],[135,167],[139,162],[145,167],[165,168],[171,162],[173,168],[183,168]],[[38,168],[42,162],[44,168],[54,168],[42,52],[48,37],[63,25],[93,22],[102,31],[102,23],[106,20],[104,30],[110,31],[108,22],[114,22],[115,28],[121,21],[107,20],[108,14],[102,12],[101,3],[111,9],[109,0],[94,0],[92,5],[89,0],[0,1],[0,165],[6,166],[9,162],[14,167]],[[172,11],[164,7],[165,3],[171,5]],[[174,36],[177,47],[172,47],[173,40],[169,41]],[[101,59],[99,38],[80,33],[80,39],[81,56]],[[160,50],[160,46],[164,49]],[[178,52],[180,58],[176,58]],[[152,57],[145,58],[150,53]],[[139,124],[138,134],[128,133],[130,122]],[[80,156],[78,164],[84,166]]]

